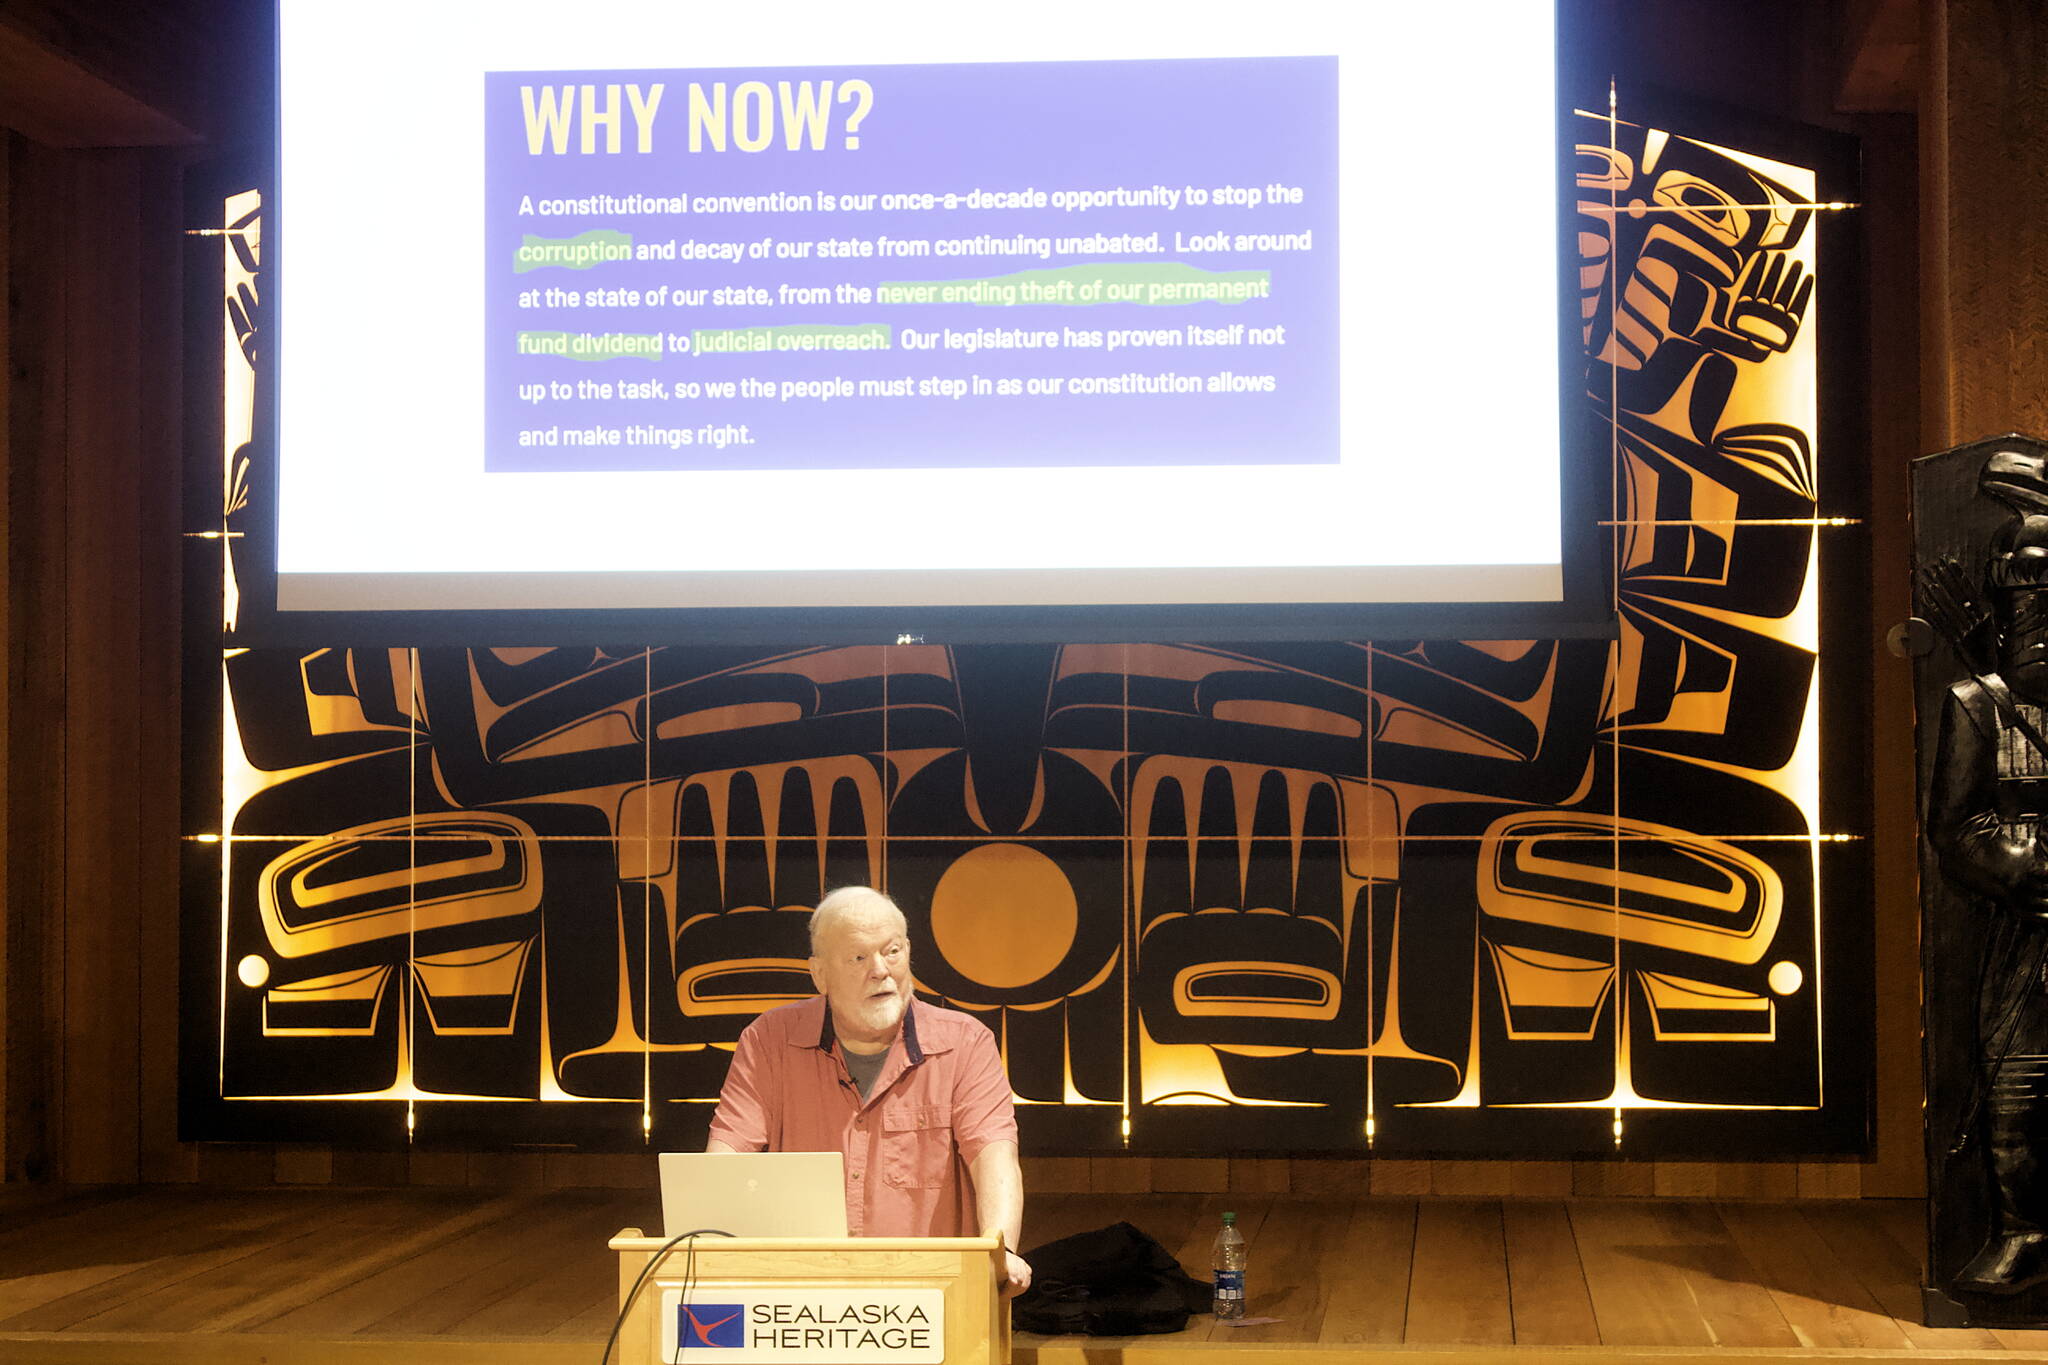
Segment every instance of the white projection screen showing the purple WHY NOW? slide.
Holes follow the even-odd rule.
[[[1548,4],[279,49],[281,610],[1563,596]]]

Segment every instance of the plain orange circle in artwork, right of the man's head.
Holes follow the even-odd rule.
[[[954,972],[999,990],[1057,968],[1079,923],[1067,874],[1022,843],[961,853],[932,890],[932,945]]]

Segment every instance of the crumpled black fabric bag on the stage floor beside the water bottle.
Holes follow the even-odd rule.
[[[1141,1336],[1178,1332],[1208,1312],[1210,1285],[1180,1269],[1159,1242],[1130,1224],[1075,1232],[1024,1252],[1030,1289],[1012,1300],[1020,1332]]]

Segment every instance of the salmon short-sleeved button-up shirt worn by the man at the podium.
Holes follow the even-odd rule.
[[[862,1101],[819,995],[739,1033],[711,1136],[735,1152],[842,1152],[854,1236],[977,1236],[969,1166],[1016,1142],[1018,1121],[989,1027],[920,1001]]]

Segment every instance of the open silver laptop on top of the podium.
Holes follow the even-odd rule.
[[[838,1152],[662,1152],[664,1236],[846,1236]]]

